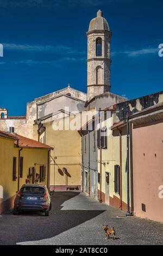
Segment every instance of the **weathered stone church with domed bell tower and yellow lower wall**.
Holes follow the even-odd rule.
[[[54,148],[51,153],[51,190],[54,191],[81,188],[82,140],[78,129],[66,129],[67,118],[73,121],[73,113],[96,112],[126,101],[110,92],[111,32],[101,10],[90,21],[86,35],[87,93],[68,85],[27,103],[25,117],[10,117],[8,109],[0,109],[0,130],[36,139]],[[54,120],[60,119],[64,119],[64,127],[55,130]]]

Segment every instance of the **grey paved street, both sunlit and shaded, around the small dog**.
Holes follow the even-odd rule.
[[[124,216],[79,192],[55,192],[49,217],[43,214],[0,216],[0,245],[160,245],[163,224]],[[116,230],[105,240],[102,224]]]

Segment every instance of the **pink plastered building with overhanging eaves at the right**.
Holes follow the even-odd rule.
[[[163,102],[131,116],[134,214],[163,222]]]

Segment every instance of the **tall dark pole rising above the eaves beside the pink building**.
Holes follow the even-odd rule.
[[[131,216],[130,212],[130,174],[129,174],[129,106],[127,106],[127,212],[126,216]]]

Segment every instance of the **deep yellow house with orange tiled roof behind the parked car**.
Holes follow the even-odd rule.
[[[0,131],[0,214],[13,205],[23,184],[49,187],[49,151],[52,147],[23,136]]]

